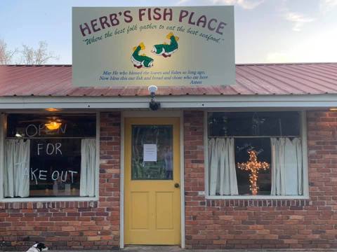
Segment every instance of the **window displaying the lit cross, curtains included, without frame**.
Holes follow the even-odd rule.
[[[300,113],[208,113],[209,195],[303,193]]]

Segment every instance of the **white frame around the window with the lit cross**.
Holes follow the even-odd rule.
[[[300,113],[300,139],[302,144],[303,158],[303,195],[209,195],[209,125],[208,115],[213,112],[282,112],[298,111]],[[270,110],[207,110],[204,111],[204,174],[205,174],[205,197],[207,200],[308,200],[308,141],[307,141],[307,119],[305,110],[294,109],[270,109]]]

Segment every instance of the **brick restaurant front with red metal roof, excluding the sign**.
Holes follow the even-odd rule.
[[[336,108],[334,63],[155,95],[0,66],[1,250],[336,248]]]

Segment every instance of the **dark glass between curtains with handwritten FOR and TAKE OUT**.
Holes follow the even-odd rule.
[[[81,139],[32,139],[29,197],[79,196]]]

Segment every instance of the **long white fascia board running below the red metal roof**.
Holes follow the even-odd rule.
[[[337,94],[180,95],[156,97],[163,109],[193,108],[328,108]],[[147,109],[150,97],[0,97],[0,109]]]

